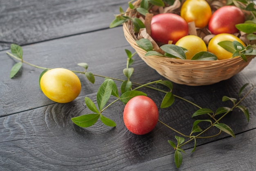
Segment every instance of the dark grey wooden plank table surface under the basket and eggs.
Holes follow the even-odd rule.
[[[89,128],[73,124],[72,117],[87,114],[87,96],[96,100],[103,78],[94,84],[77,74],[82,90],[73,102],[59,104],[40,90],[42,69],[24,64],[13,79],[9,72],[17,61],[7,56],[11,43],[23,48],[24,60],[43,67],[64,67],[125,79],[124,49],[134,52],[122,27],[109,28],[119,7],[127,0],[1,0],[0,1],[0,170],[177,170],[174,150],[167,140],[177,133],[157,123],[146,135],[130,133],[124,126],[124,104],[112,105],[105,115],[117,123],[107,127],[97,122]],[[163,79],[135,55],[131,78],[141,84]],[[256,84],[256,60],[236,76],[208,86],[191,87],[173,83],[173,93],[213,110],[230,103],[222,96],[237,98],[243,84]],[[120,87],[121,82],[116,82]],[[160,109],[163,94],[142,89],[159,107],[159,119],[189,134],[196,107],[179,99]],[[113,98],[114,99],[114,98]],[[250,122],[241,111],[222,120],[236,134],[221,133],[184,146],[180,170],[256,170],[256,91],[242,102],[249,109]],[[213,130],[214,132],[214,130]],[[209,132],[209,134],[213,133]]]

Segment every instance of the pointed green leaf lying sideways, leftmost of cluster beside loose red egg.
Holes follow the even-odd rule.
[[[81,115],[71,118],[71,120],[79,127],[90,127],[97,122],[97,120],[99,119],[99,115],[99,113]]]

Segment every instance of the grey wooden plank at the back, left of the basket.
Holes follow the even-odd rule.
[[[0,50],[105,29],[126,0],[1,0]]]

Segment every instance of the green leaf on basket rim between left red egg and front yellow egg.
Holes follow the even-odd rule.
[[[167,57],[186,59],[184,50],[175,44],[164,44],[160,48],[167,53],[165,54]]]

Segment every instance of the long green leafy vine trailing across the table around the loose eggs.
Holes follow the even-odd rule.
[[[231,49],[230,51],[239,51],[239,54],[245,54],[245,55],[247,55],[248,53],[255,53],[255,51],[251,50],[250,47],[243,48],[243,47],[241,47],[241,44],[239,44],[237,42],[231,42],[231,43],[227,42],[227,43],[229,44],[229,46],[228,47],[224,46],[224,47],[229,50]],[[141,43],[140,45],[142,47],[144,47],[145,44]],[[144,49],[151,51],[151,47],[149,46],[149,48],[148,48],[148,44],[144,47]],[[163,48],[163,49],[165,49],[165,48]],[[134,71],[134,69],[131,67],[132,63],[134,62],[132,57],[136,54],[136,52],[131,53],[127,49],[125,49],[125,51],[126,51],[126,55],[127,55],[127,60],[126,60],[126,68],[123,70],[123,73],[124,73],[124,76],[126,76],[126,80],[120,80],[117,78],[110,78],[107,76],[101,76],[101,75],[91,73],[90,71],[87,71],[88,70],[87,63],[79,63],[78,64],[79,66],[83,67],[85,69],[85,71],[73,71],[75,73],[84,74],[86,76],[86,78],[88,78],[88,80],[90,82],[92,82],[92,84],[95,81],[95,76],[105,78],[105,80],[100,85],[100,87],[97,91],[95,103],[93,102],[92,99],[90,99],[88,97],[84,98],[85,104],[91,112],[88,114],[85,114],[85,115],[80,115],[80,116],[72,118],[71,120],[72,120],[72,122],[74,122],[74,124],[78,125],[79,127],[90,127],[90,126],[94,125],[100,119],[101,122],[103,122],[103,124],[105,124],[109,127],[116,127],[116,123],[113,120],[111,120],[110,118],[103,115],[103,111],[105,111],[108,107],[115,104],[115,102],[117,102],[119,100],[121,102],[123,102],[124,104],[126,104],[131,98],[133,98],[137,95],[146,95],[146,93],[138,90],[141,87],[147,87],[147,88],[165,93],[160,108],[170,107],[173,104],[175,98],[184,100],[185,102],[193,104],[195,107],[199,108],[197,111],[195,111],[192,114],[192,118],[198,118],[201,115],[208,115],[209,119],[195,120],[193,122],[193,125],[191,127],[191,132],[189,135],[185,135],[185,134],[181,133],[180,131],[174,129],[173,127],[170,127],[169,125],[165,124],[164,122],[158,120],[158,122],[162,123],[164,126],[168,127],[175,133],[179,134],[179,136],[175,135],[176,143],[173,142],[172,140],[168,140],[168,143],[175,150],[175,153],[174,153],[175,164],[176,164],[176,167],[179,168],[180,165],[182,164],[182,159],[183,159],[182,154],[185,153],[185,151],[182,149],[182,146],[184,146],[185,144],[188,144],[189,142],[193,141],[194,147],[191,152],[194,152],[196,149],[197,139],[199,139],[199,138],[212,138],[212,137],[220,135],[220,133],[222,131],[232,137],[235,137],[234,131],[232,131],[232,129],[227,124],[220,122],[222,120],[222,118],[225,117],[225,115],[230,113],[230,111],[233,111],[234,109],[240,109],[244,113],[245,117],[247,118],[247,121],[249,122],[249,111],[248,111],[247,107],[245,107],[244,105],[241,105],[240,103],[254,89],[253,85],[252,85],[252,88],[249,89],[249,91],[247,93],[245,93],[245,95],[242,98],[241,98],[242,93],[244,92],[245,88],[247,86],[249,86],[250,84],[247,83],[247,84],[243,85],[243,87],[241,87],[241,89],[239,90],[239,93],[238,93],[238,97],[240,98],[240,100],[237,100],[236,98],[231,98],[228,96],[223,96],[222,101],[223,102],[230,101],[233,106],[232,107],[219,107],[218,109],[216,109],[216,111],[213,111],[212,109],[209,109],[209,108],[202,108],[202,107],[198,106],[197,104],[195,104],[189,100],[186,100],[185,98],[182,98],[178,95],[173,94],[172,93],[173,84],[172,84],[172,82],[170,82],[168,80],[157,80],[157,81],[149,82],[146,84],[138,84],[138,83],[132,82],[131,77],[132,77],[132,74]],[[170,50],[166,50],[166,51],[169,52]],[[185,50],[182,49],[182,51],[185,51]],[[182,51],[180,51],[180,52],[182,53]],[[165,52],[165,53],[167,53],[167,52]],[[7,54],[10,57],[18,60],[19,62],[17,62],[17,63],[21,63],[21,64],[25,63],[25,64],[29,64],[33,67],[43,69],[43,72],[40,74],[40,77],[45,73],[45,71],[50,69],[47,67],[40,67],[40,66],[34,65],[34,64],[31,64],[31,63],[23,60],[22,47],[20,47],[16,44],[11,45],[11,53],[7,52]],[[169,53],[169,54],[173,55],[173,53]],[[14,64],[14,66],[17,65],[17,63]],[[16,75],[16,73],[18,73],[19,70],[20,69],[13,67],[11,69],[11,73],[13,75],[11,78],[13,78]],[[39,77],[39,79],[40,79],[40,77]],[[115,81],[122,82],[121,87],[120,87],[121,91],[118,90],[118,87],[117,87]],[[163,86],[167,87],[168,91],[164,91],[162,89],[158,89],[158,88],[152,86],[152,84],[156,84],[156,83],[162,84]],[[111,95],[116,98],[112,102],[109,101]],[[220,116],[220,118],[216,119],[217,115]],[[203,130],[200,128],[201,123],[208,123],[209,127],[207,127],[207,129]],[[218,133],[216,133],[215,135],[202,136],[203,133],[205,133],[212,127],[216,127],[220,131]],[[188,140],[186,140],[186,139],[188,139]]]

